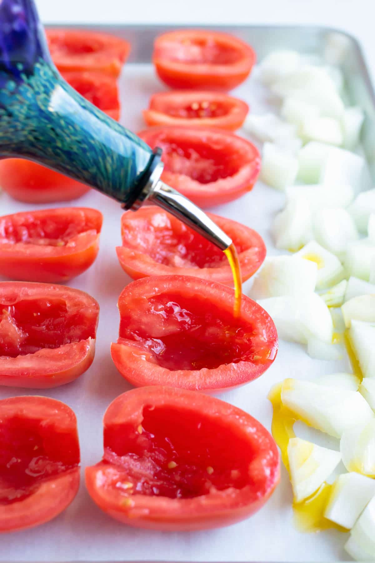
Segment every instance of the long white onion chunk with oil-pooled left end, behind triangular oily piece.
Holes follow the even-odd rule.
[[[340,438],[346,428],[374,418],[358,391],[325,387],[309,381],[284,379],[282,404],[309,426]]]

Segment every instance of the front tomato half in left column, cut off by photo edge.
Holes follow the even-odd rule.
[[[0,419],[0,532],[48,522],[78,492],[75,414],[48,397],[11,397]]]

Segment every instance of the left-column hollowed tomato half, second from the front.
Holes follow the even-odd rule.
[[[0,385],[69,383],[92,364],[99,305],[79,289],[0,283]]]

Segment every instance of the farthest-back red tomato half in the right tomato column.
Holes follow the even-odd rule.
[[[232,90],[250,74],[255,52],[233,35],[182,29],[156,38],[152,61],[171,88]]]

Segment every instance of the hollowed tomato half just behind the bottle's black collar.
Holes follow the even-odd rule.
[[[200,207],[231,202],[252,189],[260,155],[250,141],[221,129],[151,127],[138,133],[163,150],[162,180]]]

